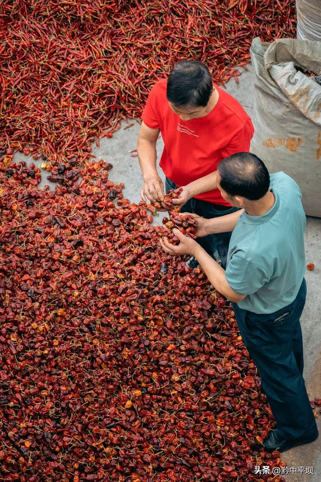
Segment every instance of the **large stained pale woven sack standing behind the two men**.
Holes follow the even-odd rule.
[[[270,171],[284,171],[302,191],[306,214],[321,217],[321,42],[256,38],[250,49],[256,74],[251,152]],[[303,71],[302,71],[303,70]]]

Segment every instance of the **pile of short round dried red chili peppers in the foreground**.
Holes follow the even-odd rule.
[[[252,449],[273,419],[231,308],[160,249],[163,228],[123,198],[111,165],[89,163],[79,185],[52,192],[37,189],[39,168],[8,158],[3,480],[257,482],[255,465],[282,465]]]

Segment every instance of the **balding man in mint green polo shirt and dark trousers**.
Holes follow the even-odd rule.
[[[302,376],[300,316],[307,287],[301,191],[288,175],[269,175],[248,152],[223,159],[217,183],[222,197],[242,210],[214,219],[198,217],[196,236],[233,231],[226,271],[178,229],[178,246],[166,237],[160,243],[167,253],[195,256],[212,285],[232,301],[277,422],[263,444],[270,452],[284,452],[319,435]]]

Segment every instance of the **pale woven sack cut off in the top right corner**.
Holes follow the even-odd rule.
[[[296,36],[301,40],[321,40],[321,0],[296,0]]]

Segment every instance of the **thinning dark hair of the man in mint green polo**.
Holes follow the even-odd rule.
[[[239,152],[218,164],[219,184],[229,196],[250,201],[263,198],[270,187],[270,175],[263,161],[250,152]]]

